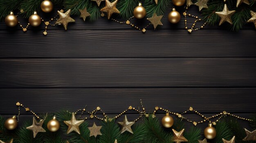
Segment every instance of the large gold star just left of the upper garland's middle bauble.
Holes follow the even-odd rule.
[[[110,19],[113,13],[120,13],[116,6],[117,0],[115,0],[114,2],[106,0],[106,6],[101,9],[101,12],[106,12],[108,14],[108,19]]]

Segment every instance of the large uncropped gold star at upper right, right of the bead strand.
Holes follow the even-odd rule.
[[[227,8],[227,4],[224,4],[224,9],[223,11],[219,11],[219,12],[215,12],[217,15],[220,16],[220,23],[219,25],[221,25],[222,23],[229,22],[230,24],[232,24],[232,20],[231,20],[231,16],[235,13],[236,11],[229,11],[229,9]]]

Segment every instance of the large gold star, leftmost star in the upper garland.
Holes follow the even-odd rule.
[[[71,12],[71,9],[69,9],[65,13],[58,11],[58,15],[60,16],[60,18],[56,21],[55,24],[62,24],[65,30],[67,30],[67,24],[69,22],[75,22],[75,20],[70,17],[70,12]]]

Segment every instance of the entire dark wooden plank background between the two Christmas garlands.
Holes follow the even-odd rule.
[[[195,6],[190,12],[200,14]],[[49,19],[55,14],[42,15]],[[0,114],[17,114],[15,103],[20,101],[37,114],[88,105],[88,110],[101,106],[115,116],[130,105],[139,107],[143,99],[147,111],[161,106],[183,112],[192,106],[206,116],[223,110],[252,115],[254,25],[239,32],[206,26],[188,33],[183,17],[170,24],[166,15],[163,26],[155,31],[150,26],[146,33],[106,18],[90,23],[74,17],[76,22],[67,31],[63,26],[49,27],[47,36],[42,34],[44,24],[23,33],[19,26],[8,28],[1,22]],[[27,22],[19,19],[23,25]],[[188,21],[191,26],[194,19]],[[128,115],[130,120],[137,117],[133,112]],[[21,117],[32,115],[22,110]],[[195,114],[186,117],[198,119]],[[245,121],[243,125],[248,127]]]

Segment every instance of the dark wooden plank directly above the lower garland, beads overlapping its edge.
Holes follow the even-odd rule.
[[[140,99],[148,112],[155,106],[173,112],[184,112],[190,106],[204,113],[255,112],[255,92],[256,88],[11,88],[0,89],[0,113],[16,114],[19,101],[36,113],[63,108],[76,111],[88,105],[89,111],[100,106],[106,113],[119,114],[129,106],[140,107]]]

